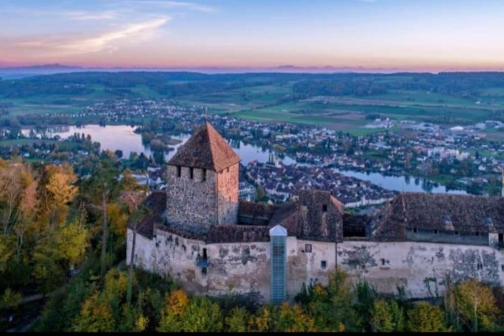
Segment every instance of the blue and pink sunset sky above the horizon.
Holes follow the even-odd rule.
[[[504,71],[502,0],[0,0],[0,66]]]

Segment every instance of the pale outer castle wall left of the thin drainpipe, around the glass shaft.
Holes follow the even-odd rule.
[[[241,294],[261,302],[270,300],[270,242],[206,244],[155,229],[150,240],[137,235],[135,264],[161,276],[171,276],[193,295]],[[132,231],[128,229],[127,260]],[[311,244],[311,252],[306,252]],[[204,249],[208,264],[198,261]],[[293,299],[303,282],[327,284],[335,267],[335,243],[287,238],[287,296]],[[200,259],[198,258],[200,256]],[[322,261],[326,261],[325,268]]]

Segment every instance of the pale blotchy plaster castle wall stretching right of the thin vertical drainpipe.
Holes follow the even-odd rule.
[[[402,286],[408,297],[442,295],[447,275],[504,283],[504,254],[488,246],[345,241],[337,249],[339,266],[382,293],[397,294]]]

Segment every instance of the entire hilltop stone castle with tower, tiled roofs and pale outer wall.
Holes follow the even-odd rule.
[[[370,216],[348,215],[330,192],[282,205],[238,200],[240,158],[206,123],[168,162],[166,192],[137,224],[137,267],[195,295],[274,303],[335,267],[379,292],[442,295],[447,277],[504,284],[502,197],[402,193]],[[133,225],[128,228],[128,262]]]

